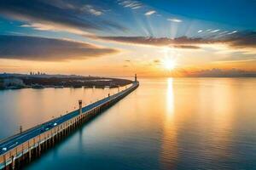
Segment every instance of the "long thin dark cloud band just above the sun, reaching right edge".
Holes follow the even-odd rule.
[[[201,45],[223,43],[231,48],[256,48],[256,31],[235,32],[221,37],[93,37],[105,41],[141,44],[150,46],[170,46],[173,48],[201,48]]]

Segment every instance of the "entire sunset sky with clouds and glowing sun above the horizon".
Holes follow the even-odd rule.
[[[256,2],[3,0],[0,72],[255,74]]]

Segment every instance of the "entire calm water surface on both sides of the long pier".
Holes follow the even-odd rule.
[[[72,110],[80,97],[107,94],[0,92],[0,134],[58,116],[62,107]],[[254,78],[142,79],[135,92],[26,168],[256,169],[255,108]]]

